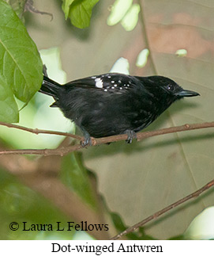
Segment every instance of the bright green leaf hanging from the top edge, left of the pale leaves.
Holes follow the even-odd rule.
[[[71,23],[79,29],[87,28],[92,17],[92,8],[99,0],[76,0],[69,8]]]

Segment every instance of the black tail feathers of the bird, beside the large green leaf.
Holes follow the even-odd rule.
[[[39,90],[40,93],[50,95],[57,101],[59,90],[62,90],[62,86],[58,82],[54,82],[45,75],[43,76],[43,84]]]

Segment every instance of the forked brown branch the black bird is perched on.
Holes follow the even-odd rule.
[[[67,133],[67,132],[54,132],[54,131],[46,131],[46,130],[39,130],[39,129],[32,129],[32,128],[24,128],[16,124],[5,124],[1,123],[2,125],[6,125],[9,128],[19,128],[24,131],[32,132],[32,133],[47,133],[47,134],[54,134],[54,135],[60,135],[60,136],[69,136],[75,139],[83,139],[81,136],[75,136],[73,134]],[[151,132],[138,132],[137,133],[137,141],[140,141],[142,139],[146,139],[148,137],[153,136],[160,136],[163,134],[173,133],[173,132],[184,132],[184,131],[190,131],[190,130],[196,130],[196,129],[202,129],[202,128],[214,128],[214,122],[206,122],[201,124],[184,124],[181,126],[175,126],[171,128],[163,128],[156,131]],[[103,137],[99,139],[92,138],[92,146],[104,144],[104,143],[111,143],[116,142],[120,140],[127,139],[126,134],[117,135],[117,136],[108,136]],[[89,146],[87,146],[89,147]],[[22,150],[4,150],[0,151],[0,155],[67,155],[70,152],[78,151],[82,149],[81,145],[73,145],[68,147],[58,147],[56,149],[22,149]]]

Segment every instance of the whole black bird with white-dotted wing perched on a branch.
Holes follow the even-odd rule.
[[[39,90],[54,97],[58,107],[84,134],[82,145],[99,138],[127,134],[132,142],[135,132],[151,124],[173,102],[197,94],[183,90],[163,76],[139,77],[108,73],[81,78],[60,85],[46,76]]]

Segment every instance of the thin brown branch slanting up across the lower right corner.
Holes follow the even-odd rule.
[[[172,208],[175,208],[178,205],[183,204],[184,202],[192,199],[193,197],[199,197],[201,195],[201,193],[203,193],[206,190],[210,189],[212,186],[214,186],[214,180],[209,181],[208,184],[204,185],[201,189],[198,189],[197,191],[195,191],[193,193],[190,193],[190,195],[188,195],[186,197],[183,197],[182,199],[176,201],[173,204],[170,204],[169,206],[167,206],[166,208],[163,208],[159,212],[156,212],[156,213],[152,214],[151,216],[148,216],[145,220],[142,220],[142,221],[138,222],[137,224],[133,225],[132,227],[127,228],[125,231],[122,231],[120,234],[115,235],[114,237],[112,237],[111,240],[120,239],[123,235],[127,235],[127,234],[135,231],[138,227],[141,227],[141,226],[145,225],[149,221],[156,220],[157,217],[163,215],[163,213],[168,212]]]

